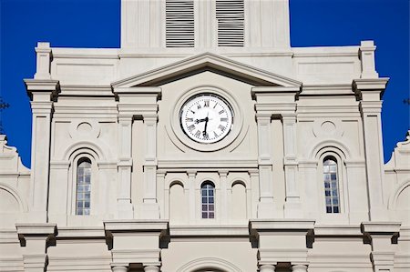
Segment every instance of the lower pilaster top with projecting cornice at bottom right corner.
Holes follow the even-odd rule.
[[[392,238],[398,237],[401,223],[364,222],[362,232],[371,240],[374,272],[393,272],[395,265],[395,247]]]

